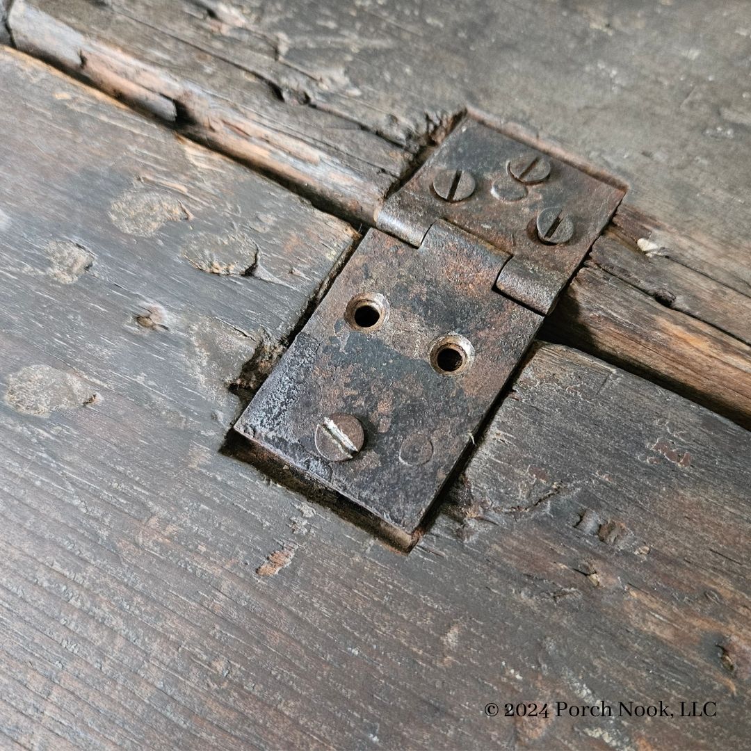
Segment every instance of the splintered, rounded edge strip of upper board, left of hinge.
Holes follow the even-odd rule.
[[[44,4],[39,4],[43,6]],[[97,13],[97,9],[90,9]],[[125,29],[138,23],[116,17]],[[268,86],[255,78],[243,95],[257,107],[228,103],[208,88],[200,74],[180,79],[159,65],[129,52],[127,41],[111,41],[97,29],[80,29],[81,23],[57,18],[29,2],[19,0],[8,18],[19,50],[62,68],[104,92],[147,110],[170,122],[182,133],[206,143],[255,169],[273,175],[323,208],[333,208],[345,219],[371,223],[391,185],[409,166],[412,155],[377,134],[354,128],[336,114],[292,107],[275,101]],[[92,17],[92,24],[95,17]],[[115,31],[108,29],[113,34]],[[136,50],[137,54],[137,50]],[[232,69],[216,57],[216,66]],[[248,74],[250,75],[250,74]],[[194,80],[195,79],[195,80]],[[257,101],[256,101],[257,100]],[[246,104],[248,104],[246,102]],[[255,110],[258,111],[255,111]],[[306,118],[314,117],[305,127]],[[316,131],[333,131],[321,137]],[[355,139],[353,144],[348,139]]]

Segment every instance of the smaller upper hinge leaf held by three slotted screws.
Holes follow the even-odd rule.
[[[497,288],[547,314],[623,195],[622,189],[466,118],[388,198],[377,225],[417,246],[436,219],[448,220],[513,255]],[[540,240],[538,217],[551,208],[560,210],[560,221],[553,222],[550,240]],[[570,239],[555,243],[566,237],[569,224]]]

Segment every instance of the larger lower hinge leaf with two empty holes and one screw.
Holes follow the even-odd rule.
[[[412,532],[541,323],[493,291],[505,258],[444,222],[369,231],[235,429]]]

